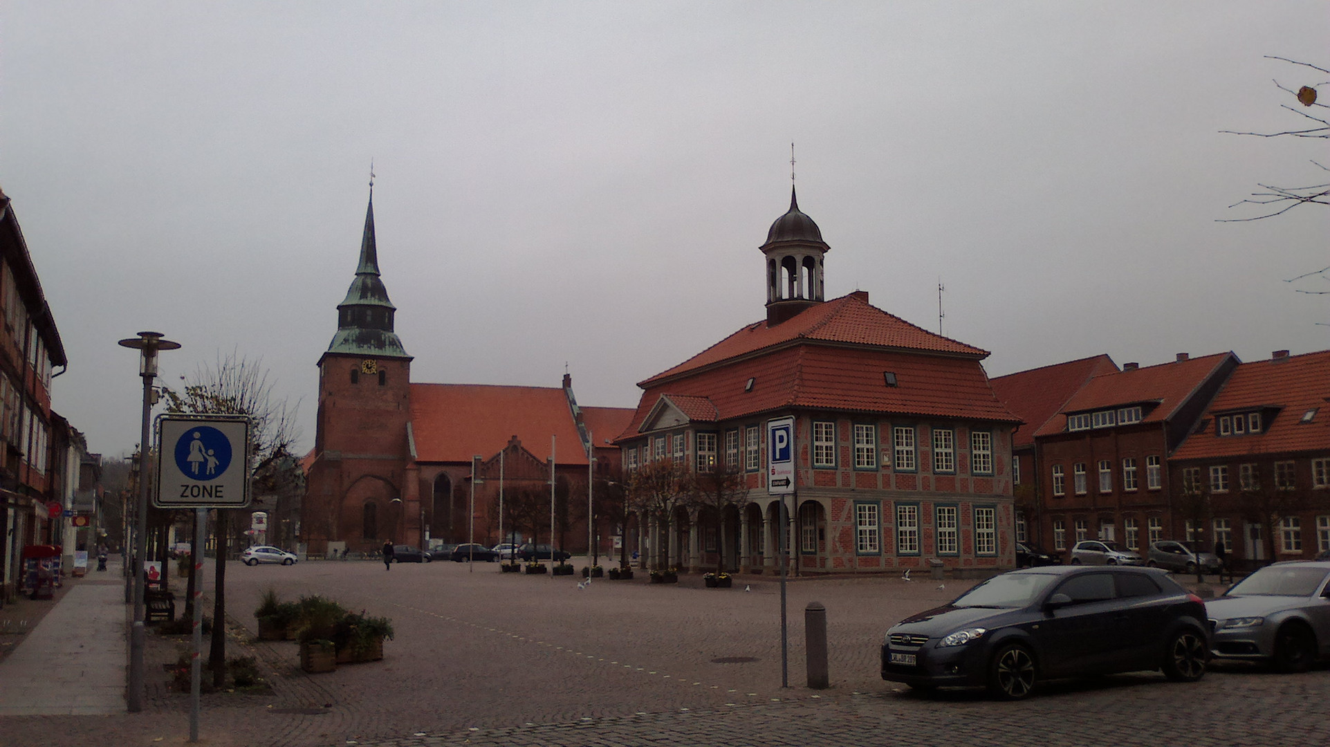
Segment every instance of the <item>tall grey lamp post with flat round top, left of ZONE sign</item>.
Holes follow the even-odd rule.
[[[144,379],[144,413],[138,439],[138,504],[134,514],[134,625],[129,635],[129,712],[144,710],[144,554],[148,552],[148,425],[153,415],[153,379],[157,377],[157,352],[177,350],[180,343],[161,332],[138,332],[137,338],[120,340],[121,347],[138,351],[138,375]]]

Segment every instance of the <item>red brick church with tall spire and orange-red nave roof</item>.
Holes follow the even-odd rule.
[[[355,279],[318,364],[315,443],[303,460],[307,552],[372,550],[386,540],[497,542],[499,492],[549,489],[551,437],[556,488],[569,505],[568,549],[585,550],[576,513],[585,500],[572,496],[587,494],[588,452],[602,475],[617,469],[618,449],[605,437],[622,431],[632,411],[580,408],[568,375],[561,387],[414,383],[395,315],[379,274],[371,194]]]

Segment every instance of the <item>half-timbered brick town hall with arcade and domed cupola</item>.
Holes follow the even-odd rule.
[[[660,460],[734,471],[746,493],[721,509],[681,500],[638,512],[634,549],[680,568],[777,569],[766,423],[793,416],[795,570],[1009,568],[1019,420],[990,387],[988,354],[871,306],[867,292],[826,300],[829,249],[791,194],[761,246],[766,319],[638,384],[616,439],[625,471]]]

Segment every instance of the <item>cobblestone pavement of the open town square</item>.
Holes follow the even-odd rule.
[[[642,576],[642,574],[640,574]],[[1141,673],[1053,683],[1024,703],[922,698],[878,677],[886,627],[968,582],[801,580],[789,585],[789,682],[769,577],[730,590],[644,580],[500,574],[491,564],[302,562],[227,569],[229,609],[253,631],[263,589],[321,593],[392,618],[382,662],[306,675],[289,642],[233,645],[269,669],[267,695],[205,699],[203,744],[1322,744],[1330,671],[1212,673],[1177,685]],[[751,591],[743,591],[749,585]],[[803,687],[803,607],[827,607],[831,689]],[[753,659],[718,663],[716,659]],[[152,690],[148,712],[53,724],[0,719],[0,746],[182,744],[188,698]],[[12,739],[12,740],[11,740]]]

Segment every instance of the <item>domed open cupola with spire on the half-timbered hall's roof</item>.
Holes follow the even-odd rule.
[[[766,243],[766,324],[775,327],[810,306],[825,300],[822,291],[822,258],[830,246],[822,230],[799,210],[799,201],[790,187],[790,210],[771,223]]]

